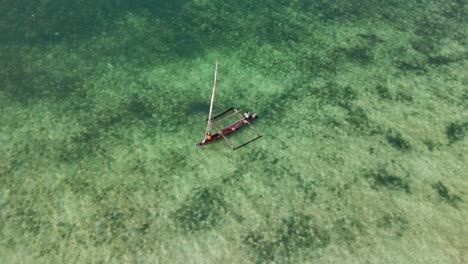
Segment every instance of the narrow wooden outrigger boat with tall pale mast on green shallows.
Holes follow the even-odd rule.
[[[260,135],[260,133],[258,133],[257,129],[250,123],[251,121],[253,121],[255,118],[257,118],[257,114],[254,113],[250,113],[250,112],[244,112],[242,114],[241,110],[237,110],[235,109],[234,107],[231,107],[227,110],[225,110],[224,112],[222,112],[221,114],[218,114],[216,116],[212,116],[212,113],[213,113],[213,103],[214,103],[214,96],[215,96],[215,92],[216,92],[216,80],[217,80],[217,77],[218,77],[218,61],[216,60],[216,65],[215,65],[215,74],[214,74],[214,82],[213,82],[213,92],[211,94],[211,103],[210,103],[210,112],[208,114],[208,125],[206,126],[206,131],[205,131],[205,137],[203,138],[203,140],[199,143],[197,143],[197,146],[200,147],[200,146],[204,146],[204,145],[208,145],[212,142],[215,142],[217,141],[218,139],[221,139],[223,138],[228,144],[229,146],[231,147],[232,150],[236,150],[236,149],[239,149],[259,138],[262,137],[262,135]],[[230,113],[230,114],[228,114]],[[226,115],[228,114],[228,115]],[[220,122],[222,120],[225,120],[226,118],[229,118],[229,117],[232,117],[232,116],[239,116],[240,119],[238,119],[237,121],[231,123],[230,125],[228,126],[225,126],[225,127],[219,127],[218,124],[220,124]],[[253,131],[255,131],[256,133],[256,137],[253,138],[253,139],[250,139],[248,140],[247,142],[245,143],[242,143],[238,146],[234,146],[231,141],[229,141],[227,139],[227,135],[229,134],[232,134],[234,132],[236,132],[239,128],[243,127],[243,126],[249,126]],[[216,133],[214,134],[211,134],[211,130],[212,128],[214,128],[216,130]]]

